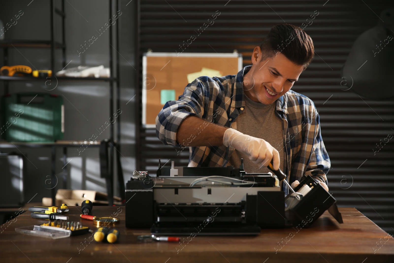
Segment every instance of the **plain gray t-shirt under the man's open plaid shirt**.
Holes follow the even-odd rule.
[[[279,151],[281,162],[279,168],[283,171],[284,143],[282,119],[275,112],[276,103],[269,105],[252,101],[245,96],[245,107],[242,113],[236,118],[236,130],[256,138],[262,138]],[[231,148],[230,148],[231,149]],[[238,168],[243,158],[243,168],[247,173],[268,173],[267,167],[259,169],[258,164],[249,160],[247,155],[235,150],[232,152],[227,165]],[[279,184],[282,187],[282,182]]]

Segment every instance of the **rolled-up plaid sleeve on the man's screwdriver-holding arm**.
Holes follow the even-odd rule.
[[[165,145],[183,147],[177,143],[177,131],[189,116],[201,118],[204,114],[204,100],[208,95],[204,83],[199,78],[186,86],[177,101],[167,101],[156,117],[156,136]],[[209,96],[208,96],[209,97]]]

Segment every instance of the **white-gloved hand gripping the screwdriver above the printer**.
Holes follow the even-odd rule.
[[[223,144],[248,155],[249,160],[259,166],[268,166],[273,160],[273,168],[279,169],[279,152],[263,139],[229,128],[224,132]]]

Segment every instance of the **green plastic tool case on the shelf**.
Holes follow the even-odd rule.
[[[2,97],[0,134],[8,142],[55,142],[64,135],[63,97],[17,93]]]

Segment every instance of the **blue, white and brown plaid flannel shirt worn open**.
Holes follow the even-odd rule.
[[[200,76],[189,83],[178,100],[167,101],[156,117],[157,137],[165,145],[182,148],[210,123],[236,129],[236,118],[245,107],[243,75],[250,67],[244,67],[237,75]],[[290,90],[271,105],[276,106],[275,111],[283,123],[286,148],[283,172],[288,175],[288,183],[310,175],[315,181],[327,184],[326,174],[331,164],[320,133],[319,114],[312,100]],[[176,141],[177,131],[188,116],[196,116],[206,122],[187,142],[183,142],[186,146],[182,146]],[[225,167],[232,152],[233,148],[225,145],[190,147],[188,166]],[[287,195],[288,187],[283,185]]]

